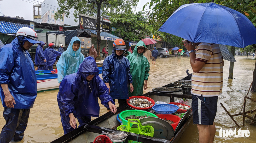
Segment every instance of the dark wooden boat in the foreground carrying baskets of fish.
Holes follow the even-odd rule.
[[[191,76],[187,76],[183,78],[182,80],[189,80]],[[165,85],[163,87],[173,87],[172,83]],[[147,92],[143,94],[142,96],[146,96],[149,98],[152,98],[154,101],[165,101],[166,103],[169,102],[174,102],[174,97],[177,98],[189,98],[192,99],[191,95],[184,95],[182,92],[174,92],[174,93],[157,93],[157,92]],[[114,130],[114,127],[117,127],[120,125],[120,123],[117,121],[117,115],[125,110],[132,110],[129,106],[121,105],[117,107],[117,113],[113,114],[112,112],[107,112],[106,114],[96,118],[95,120],[92,120],[88,124],[81,126],[65,135],[62,137],[52,141],[51,143],[91,143],[94,141],[94,139],[102,134],[102,131],[104,132],[116,132],[118,130]],[[190,111],[190,112],[188,112]],[[175,143],[177,142],[182,134],[184,133],[185,129],[189,125],[190,121],[192,120],[192,112],[191,108],[188,110],[186,113],[187,116],[183,116],[182,120],[183,123],[179,127],[179,130],[174,131],[174,137],[171,140],[166,140],[166,139],[160,139],[160,138],[154,138],[154,137],[148,137],[145,135],[140,135],[140,134],[135,134],[135,133],[130,133],[130,132],[125,132],[128,137],[125,142],[128,142],[128,140],[132,141],[139,141],[139,142],[156,142],[156,143]],[[185,113],[185,114],[186,114]],[[185,117],[185,118],[184,118]]]

